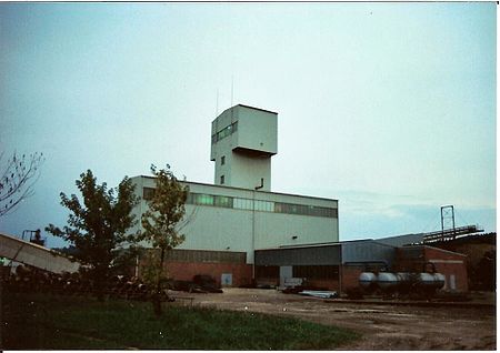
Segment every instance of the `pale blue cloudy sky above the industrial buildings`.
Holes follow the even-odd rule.
[[[496,231],[496,27],[493,2],[0,3],[0,150],[47,157],[0,231],[63,225],[87,169],[212,183],[231,97],[279,113],[272,189],[338,199],[341,240],[446,204]]]

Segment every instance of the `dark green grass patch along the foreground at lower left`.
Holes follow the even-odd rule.
[[[223,295],[223,294],[222,294]],[[2,349],[331,350],[352,331],[250,312],[4,293]]]

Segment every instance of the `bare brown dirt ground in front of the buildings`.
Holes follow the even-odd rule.
[[[224,289],[222,294],[176,293],[193,305],[294,316],[352,329],[362,339],[340,350],[496,350],[494,307],[468,304],[444,307],[346,303],[276,290]],[[476,295],[476,302],[496,303],[494,293]]]

